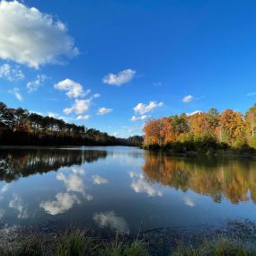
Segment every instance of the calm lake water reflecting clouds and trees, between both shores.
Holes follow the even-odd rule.
[[[0,218],[119,232],[256,221],[256,162],[136,147],[0,149]]]

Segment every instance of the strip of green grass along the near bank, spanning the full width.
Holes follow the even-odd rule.
[[[210,239],[204,238],[198,243],[186,239],[170,247],[168,252],[162,253],[160,246],[152,250],[150,243],[138,237],[127,240],[117,235],[107,241],[79,229],[66,230],[54,236],[25,234],[11,246],[2,244],[0,249],[0,255],[3,256],[249,256],[256,255],[256,243],[255,240],[241,239],[239,235],[221,234]]]

